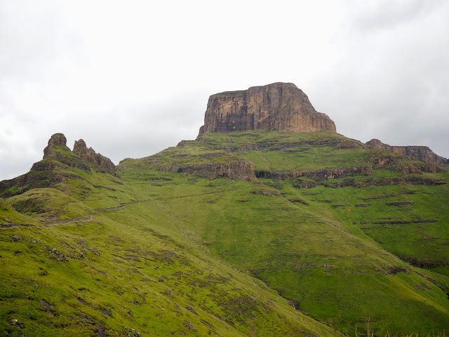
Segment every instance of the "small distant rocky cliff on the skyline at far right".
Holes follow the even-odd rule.
[[[398,154],[404,154],[427,164],[441,165],[449,163],[448,159],[438,156],[438,154],[435,154],[427,146],[390,146],[382,143],[378,139],[372,139],[369,142],[366,142],[366,145],[373,149],[388,150]]]

